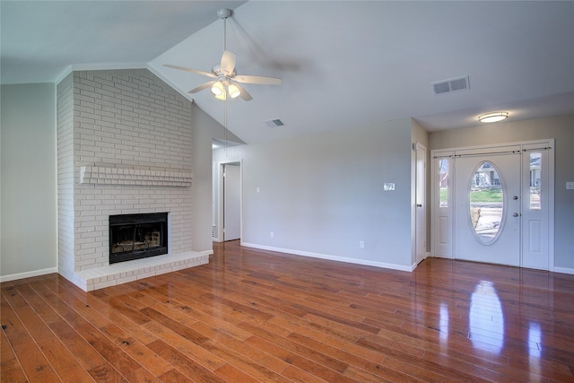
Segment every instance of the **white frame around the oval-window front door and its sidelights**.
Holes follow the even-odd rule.
[[[528,151],[524,150],[524,146],[530,145],[540,145],[541,150],[547,150],[548,153],[548,271],[554,271],[554,187],[555,187],[555,179],[554,179],[554,139],[542,139],[542,140],[533,140],[533,141],[521,141],[521,142],[512,142],[512,143],[504,143],[504,144],[488,144],[488,145],[476,145],[476,146],[461,146],[461,147],[454,147],[454,148],[445,148],[445,149],[433,149],[431,150],[431,253],[433,257],[448,257],[448,258],[456,258],[454,252],[454,243],[456,241],[455,234],[454,234],[454,225],[453,219],[455,216],[455,202],[454,202],[454,187],[455,187],[455,177],[456,177],[456,155],[457,152],[468,152],[468,151],[476,151],[476,152],[500,152],[502,148],[513,146],[513,145],[520,145],[522,148],[521,155],[524,156],[525,153]],[[448,158],[449,159],[449,169],[448,169],[448,206],[450,207],[451,211],[448,213],[448,235],[450,236],[450,244],[448,247],[447,252],[443,252],[441,255],[436,255],[438,251],[436,250],[438,247],[437,238],[439,233],[437,232],[437,222],[438,222],[438,204],[439,204],[439,193],[437,193],[437,166],[439,158]],[[521,173],[523,171],[524,166],[524,157],[521,161]],[[523,187],[524,183],[521,182],[521,187]],[[522,210],[521,210],[522,212]],[[522,222],[522,219],[521,219]],[[524,235],[524,228],[520,228],[520,266],[522,266],[522,240]],[[544,269],[545,270],[545,269]]]

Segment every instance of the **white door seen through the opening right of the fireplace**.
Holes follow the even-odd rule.
[[[241,176],[238,164],[223,165],[223,240],[241,238]]]

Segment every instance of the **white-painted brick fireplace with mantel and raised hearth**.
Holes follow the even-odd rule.
[[[192,251],[191,103],[145,69],[57,85],[58,270],[91,291],[209,261]],[[109,263],[110,216],[166,213],[167,254]]]

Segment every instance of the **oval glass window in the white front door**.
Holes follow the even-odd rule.
[[[483,161],[474,170],[470,182],[470,222],[476,239],[490,245],[502,230],[504,195],[499,172],[491,161]]]

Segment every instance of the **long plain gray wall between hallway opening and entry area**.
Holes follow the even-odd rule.
[[[244,245],[410,270],[411,141],[404,118],[231,147],[214,161],[242,161]]]

